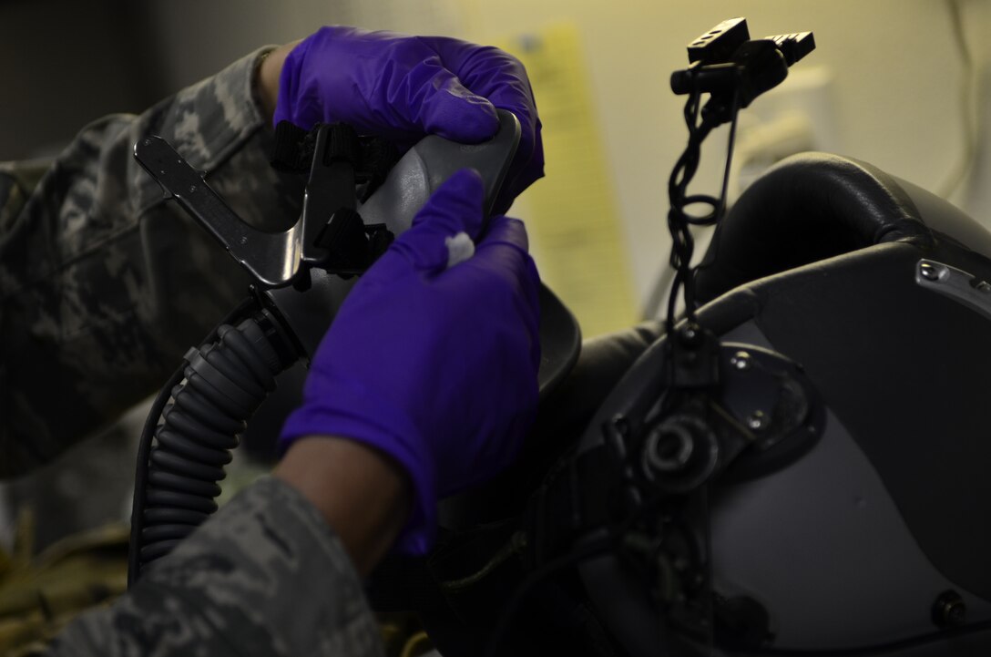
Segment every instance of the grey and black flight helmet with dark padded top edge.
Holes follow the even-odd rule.
[[[701,331],[587,342],[519,464],[384,570],[446,656],[988,649],[989,257],[874,166],[777,164],[716,233]]]

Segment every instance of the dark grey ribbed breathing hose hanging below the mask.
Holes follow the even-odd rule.
[[[221,324],[207,344],[186,353],[184,365],[156,399],[142,435],[129,585],[217,510],[218,482],[231,450],[275,389],[275,376],[294,362],[268,311],[237,327]]]

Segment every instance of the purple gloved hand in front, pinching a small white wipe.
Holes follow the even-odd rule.
[[[395,459],[415,495],[407,553],[429,548],[439,496],[509,464],[536,411],[539,278],[515,219],[472,255],[483,196],[475,171],[451,176],[362,276],[282,430],[283,447],[334,435]]]

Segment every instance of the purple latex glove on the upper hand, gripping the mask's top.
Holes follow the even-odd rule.
[[[476,144],[495,135],[496,107],[515,114],[522,128],[495,203],[496,212],[504,212],[544,174],[544,152],[526,70],[491,46],[322,28],[286,57],[274,121],[307,130],[319,121],[344,121],[400,148],[427,134]]]

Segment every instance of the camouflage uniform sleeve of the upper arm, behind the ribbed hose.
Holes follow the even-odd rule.
[[[165,137],[265,230],[302,180],[268,164],[272,131],[246,56],[140,116],[82,130],[30,196],[0,164],[0,476],[19,475],[154,392],[247,292],[248,277],[134,161]]]

